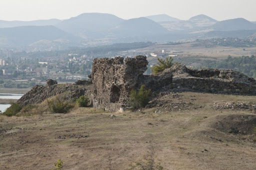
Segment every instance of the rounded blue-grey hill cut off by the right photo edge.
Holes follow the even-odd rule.
[[[215,31],[234,31],[234,30],[249,30],[256,29],[256,24],[244,18],[235,18],[223,20],[212,25]]]

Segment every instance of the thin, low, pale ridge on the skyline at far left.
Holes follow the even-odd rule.
[[[47,20],[32,20],[32,21],[6,21],[0,20],[0,28],[16,27],[16,26],[44,26],[44,25],[55,25],[61,22],[59,19],[47,19]]]

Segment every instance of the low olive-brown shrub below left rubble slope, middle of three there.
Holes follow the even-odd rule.
[[[47,100],[48,107],[52,113],[67,113],[73,105],[67,102],[61,102],[58,98],[56,100]]]

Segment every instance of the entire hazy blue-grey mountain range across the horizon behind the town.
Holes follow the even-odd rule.
[[[188,20],[180,20],[166,14],[159,14],[125,20],[108,13],[82,13],[65,20],[0,20],[0,47],[41,44],[36,42],[41,40],[52,42],[57,39],[81,45],[175,41],[198,37],[244,38],[255,32],[255,22],[244,18],[217,21],[200,14]]]

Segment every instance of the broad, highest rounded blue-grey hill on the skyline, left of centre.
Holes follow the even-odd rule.
[[[108,13],[82,13],[78,16],[65,19],[56,27],[74,34],[89,36],[89,33],[106,31],[123,19]]]

